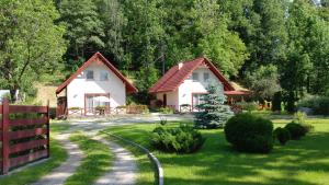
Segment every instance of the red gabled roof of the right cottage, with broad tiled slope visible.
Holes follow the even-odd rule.
[[[169,71],[160,78],[160,80],[149,89],[149,93],[170,92],[175,91],[183,81],[191,76],[201,65],[208,66],[209,70],[219,79],[224,84],[224,91],[234,91],[235,89],[225,79],[222,72],[206,58],[201,57],[191,61],[185,61],[181,69],[179,65],[169,69]]]

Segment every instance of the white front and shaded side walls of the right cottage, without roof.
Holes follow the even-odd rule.
[[[177,91],[157,93],[157,100],[161,100],[163,102],[163,94],[167,94],[167,106],[173,106],[177,111],[179,111],[179,107],[182,104],[189,104],[192,106],[193,94],[207,93],[206,89],[209,84],[215,84],[216,86],[218,86],[219,93],[224,94],[223,83],[208,68],[206,68],[205,66],[201,66],[195,69],[193,73],[198,77],[197,80],[193,80],[193,74],[191,74],[184,80],[183,83],[180,84]],[[208,76],[208,79],[205,80],[204,76]]]

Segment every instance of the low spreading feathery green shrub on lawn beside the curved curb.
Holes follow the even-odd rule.
[[[205,139],[201,132],[188,125],[175,128],[157,127],[152,131],[151,144],[166,152],[191,153],[198,150]]]

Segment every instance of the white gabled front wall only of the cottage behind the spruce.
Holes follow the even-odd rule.
[[[218,78],[206,67],[200,67],[195,69],[193,72],[198,73],[198,81],[192,80],[192,74],[180,86],[179,86],[179,105],[190,104],[192,105],[192,93],[206,93],[206,88],[213,83],[224,93],[223,83],[218,80]],[[204,81],[203,73],[209,73],[209,80]]]

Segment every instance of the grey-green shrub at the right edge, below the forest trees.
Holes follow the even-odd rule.
[[[297,107],[308,107],[316,115],[329,115],[329,97],[307,96],[298,102]]]

